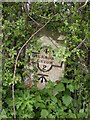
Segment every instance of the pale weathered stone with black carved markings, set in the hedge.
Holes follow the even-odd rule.
[[[56,37],[55,39],[55,36],[53,38],[50,34],[40,34],[37,42],[41,42],[42,45],[41,50],[36,57],[36,74],[38,76],[38,89],[43,89],[49,80],[51,80],[52,82],[60,81],[63,77],[63,58],[60,58],[60,60],[58,61],[55,58],[53,52],[55,51],[55,49],[63,48],[64,39],[65,36],[63,35],[58,35],[58,37]],[[36,51],[36,53],[37,52],[38,51]],[[30,67],[32,66],[33,65],[31,65]],[[33,77],[31,79],[33,80]]]

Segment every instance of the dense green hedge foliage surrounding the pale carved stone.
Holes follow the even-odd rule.
[[[13,118],[11,85],[17,53],[28,38],[49,19],[46,29],[52,36],[65,35],[65,72],[59,84],[49,82],[45,89],[24,88],[26,48],[19,56],[15,78],[17,118],[88,118],[90,117],[90,33],[89,3],[3,3],[2,116]],[[39,50],[37,37],[28,43],[28,54]],[[58,59],[60,54],[57,53]],[[56,91],[56,95],[54,95]]]

